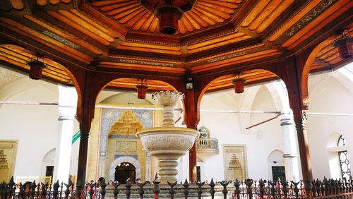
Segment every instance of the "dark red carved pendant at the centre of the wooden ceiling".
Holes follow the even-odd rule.
[[[160,32],[173,35],[178,30],[178,20],[190,11],[196,0],[140,0],[140,3],[160,20]]]

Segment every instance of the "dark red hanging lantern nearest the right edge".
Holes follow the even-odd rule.
[[[337,40],[333,42],[333,47],[337,47],[340,53],[340,58],[348,59],[353,55],[352,43],[353,38],[350,37],[349,30],[345,31],[343,29],[336,31]]]

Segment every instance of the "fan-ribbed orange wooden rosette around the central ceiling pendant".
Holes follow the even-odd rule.
[[[242,3],[241,0],[198,0],[192,10],[187,11],[184,17],[179,20],[180,27],[177,34],[195,32],[215,25],[215,23],[224,23],[239,8],[238,4]],[[106,13],[112,19],[118,20],[125,28],[132,28],[134,31],[158,32],[156,30],[158,27],[157,18],[151,15],[150,11],[137,0],[94,1],[92,6]]]

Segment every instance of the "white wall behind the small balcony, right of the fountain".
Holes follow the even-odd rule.
[[[246,91],[241,95],[246,95]],[[229,101],[229,99],[232,101]],[[240,99],[241,97],[235,95],[233,91],[227,92],[227,95],[224,93],[205,95],[201,100],[201,109],[275,111],[273,99],[265,87],[258,90],[251,109],[242,109],[241,104],[245,103],[240,102]],[[242,99],[246,99],[246,97]],[[251,114],[249,126],[270,119],[273,116],[275,114]],[[201,111],[199,126],[207,127],[210,130],[210,137],[217,138],[220,147],[219,155],[214,155],[203,162],[201,181],[206,179],[210,181],[212,177],[217,181],[224,180],[223,145],[229,144],[246,145],[249,178],[272,178],[268,172],[268,155],[273,150],[282,150],[280,120],[275,119],[246,131],[241,131],[239,121],[240,114]]]

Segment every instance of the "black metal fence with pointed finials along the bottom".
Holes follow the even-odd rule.
[[[102,178],[101,178],[102,179]],[[18,183],[0,184],[0,199],[8,198],[353,198],[353,179],[349,181],[323,179],[323,181],[220,181],[210,183],[152,183],[131,184],[103,179],[76,183]]]

